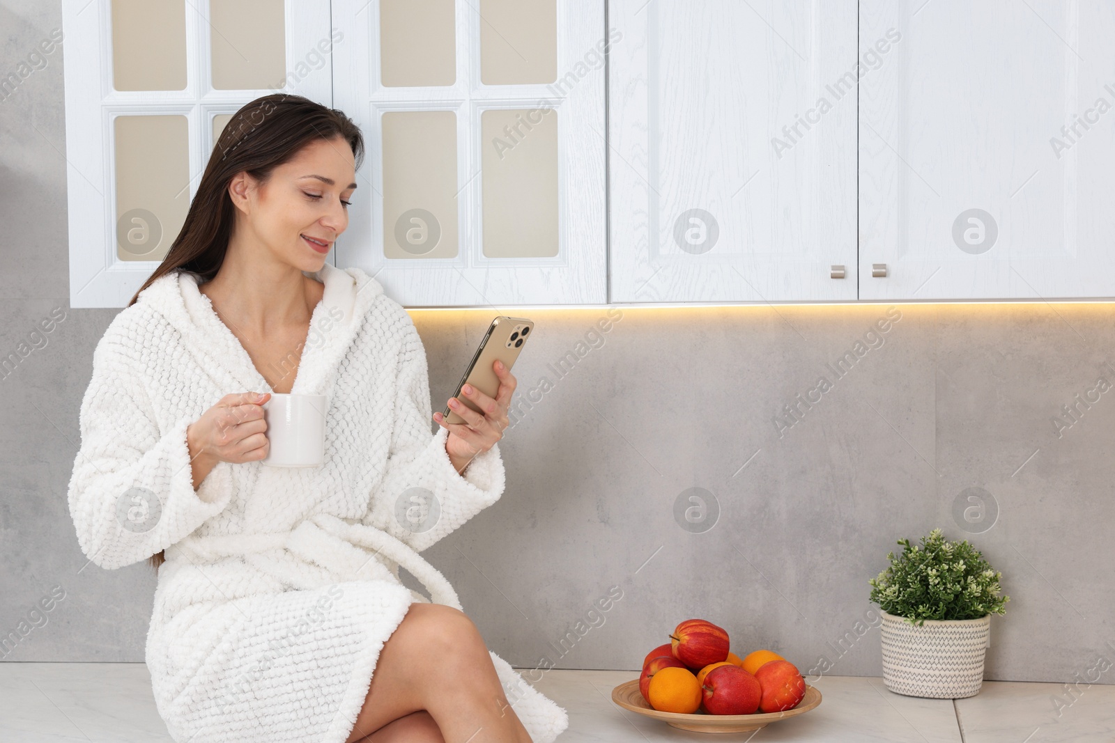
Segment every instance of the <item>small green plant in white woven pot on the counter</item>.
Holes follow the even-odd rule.
[[[883,683],[908,696],[962,698],[979,693],[991,615],[1005,614],[1000,573],[963,541],[940,529],[921,546],[899,539],[902,554],[872,578],[871,600],[882,609]]]

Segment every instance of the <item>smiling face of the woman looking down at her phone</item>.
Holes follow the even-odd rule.
[[[352,148],[338,137],[306,145],[262,185],[237,174],[229,185],[237,207],[233,241],[301,271],[320,270],[348,227],[346,202],[356,188],[355,165]]]

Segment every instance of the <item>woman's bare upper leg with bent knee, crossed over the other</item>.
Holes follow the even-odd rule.
[[[531,743],[479,630],[452,606],[410,605],[379,653],[348,743],[421,710],[446,743]]]

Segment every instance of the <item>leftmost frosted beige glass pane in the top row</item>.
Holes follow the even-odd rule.
[[[185,1],[113,0],[112,16],[113,87],[185,90]]]

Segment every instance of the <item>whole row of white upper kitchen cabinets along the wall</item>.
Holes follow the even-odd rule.
[[[252,8],[64,0],[71,306],[277,89],[363,129],[330,260],[407,306],[1115,297],[1111,2]]]

